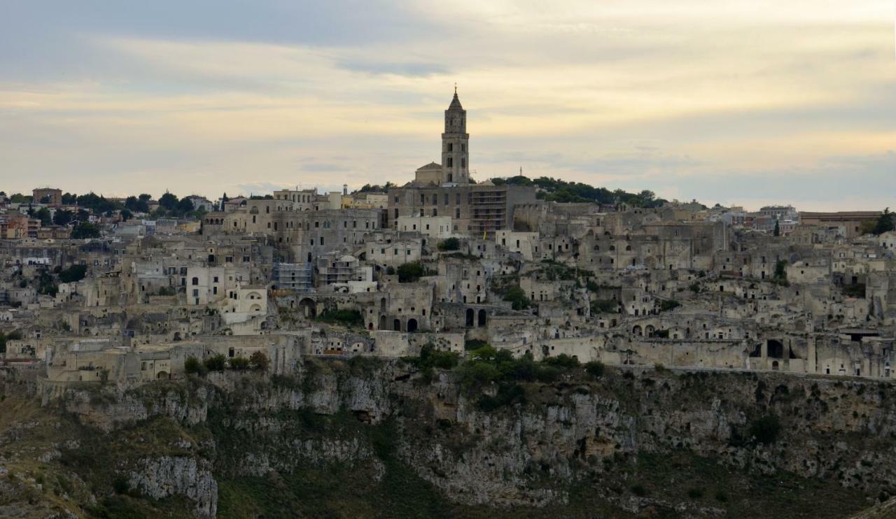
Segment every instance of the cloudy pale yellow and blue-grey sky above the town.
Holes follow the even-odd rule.
[[[896,208],[892,0],[0,0],[0,190],[477,180]]]

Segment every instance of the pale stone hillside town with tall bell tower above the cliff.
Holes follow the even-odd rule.
[[[60,193],[34,200],[62,207]],[[475,183],[456,94],[442,163],[403,186],[200,199],[194,220],[96,217],[90,239],[11,234],[22,212],[7,200],[4,363],[65,387],[177,379],[190,357],[262,352],[288,372],[303,355],[487,343],[537,360],[894,376],[896,234],[861,232],[880,212],[608,210]]]

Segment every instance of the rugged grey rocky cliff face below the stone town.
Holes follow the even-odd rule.
[[[896,493],[889,385],[668,370],[592,380],[573,370],[518,387],[521,398],[495,407],[480,400],[495,387],[463,390],[450,372],[427,379],[401,362],[314,361],[293,377],[224,372],[129,391],[73,389],[60,405],[105,431],[98,438],[119,438],[108,470],[131,493],[185,498],[196,515],[219,510],[219,481],[357,466],[385,485],[400,465],[459,506],[564,506],[587,489],[607,510],[634,515],[730,511],[722,489],[716,500],[702,489],[688,489],[691,498],[640,489],[650,480],[645,460],[659,473],[682,453],[744,481],[783,472],[836,481],[854,509]],[[676,471],[685,468],[663,477],[685,489]]]

